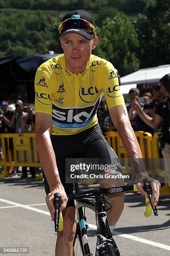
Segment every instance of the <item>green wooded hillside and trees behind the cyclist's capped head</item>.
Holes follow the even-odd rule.
[[[99,38],[94,54],[121,75],[170,64],[169,0],[0,0],[0,56],[62,52],[57,27],[75,9],[90,11]]]

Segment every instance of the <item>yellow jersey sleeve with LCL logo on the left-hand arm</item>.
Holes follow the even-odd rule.
[[[55,80],[50,65],[42,64],[35,75],[35,112],[52,115]]]

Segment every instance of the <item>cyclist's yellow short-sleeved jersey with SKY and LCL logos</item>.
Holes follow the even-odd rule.
[[[113,65],[91,55],[86,69],[73,74],[64,54],[47,60],[35,76],[35,112],[52,115],[52,134],[80,133],[97,123],[97,108],[105,94],[108,108],[125,104]]]

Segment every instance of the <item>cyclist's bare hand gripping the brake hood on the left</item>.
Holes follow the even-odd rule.
[[[62,205],[60,206],[60,212],[62,210],[65,209],[66,205],[67,205],[67,195],[65,193],[64,187],[62,186],[62,184],[60,184],[58,187],[56,187],[54,190],[52,190],[52,192],[50,192],[46,197],[45,197],[45,201],[48,207],[48,210],[50,211],[51,214],[51,220],[54,220],[54,214],[55,214],[55,208],[54,208],[54,194],[56,192],[59,192],[61,194],[61,202]]]

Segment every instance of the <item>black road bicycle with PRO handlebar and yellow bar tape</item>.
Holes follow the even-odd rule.
[[[87,239],[87,229],[88,225],[86,223],[87,218],[85,217],[85,207],[95,212],[96,226],[97,226],[97,243],[95,256],[120,256],[119,249],[112,238],[112,233],[110,231],[109,225],[107,223],[107,210],[110,210],[112,205],[106,200],[106,196],[113,193],[121,192],[132,192],[137,191],[136,184],[134,185],[125,185],[119,187],[110,187],[102,188],[98,187],[87,192],[80,192],[78,184],[74,184],[75,194],[67,195],[68,200],[75,200],[76,210],[77,210],[77,219],[76,221],[76,233],[73,242],[73,256],[92,256],[90,252],[90,247]],[[150,205],[146,206],[144,215],[149,217],[152,215],[158,215],[157,208],[153,206],[151,202],[152,189],[149,180],[144,181],[144,189],[148,194],[148,197],[145,197],[145,201],[150,201]],[[57,202],[57,203],[56,203]],[[109,207],[106,209],[106,203]],[[55,231],[58,232],[62,230],[62,220],[59,220],[60,212],[60,194],[55,193],[54,195],[54,205],[55,205]],[[84,211],[83,211],[84,209]],[[60,213],[61,217],[61,213]],[[59,225],[60,221],[60,225]]]

